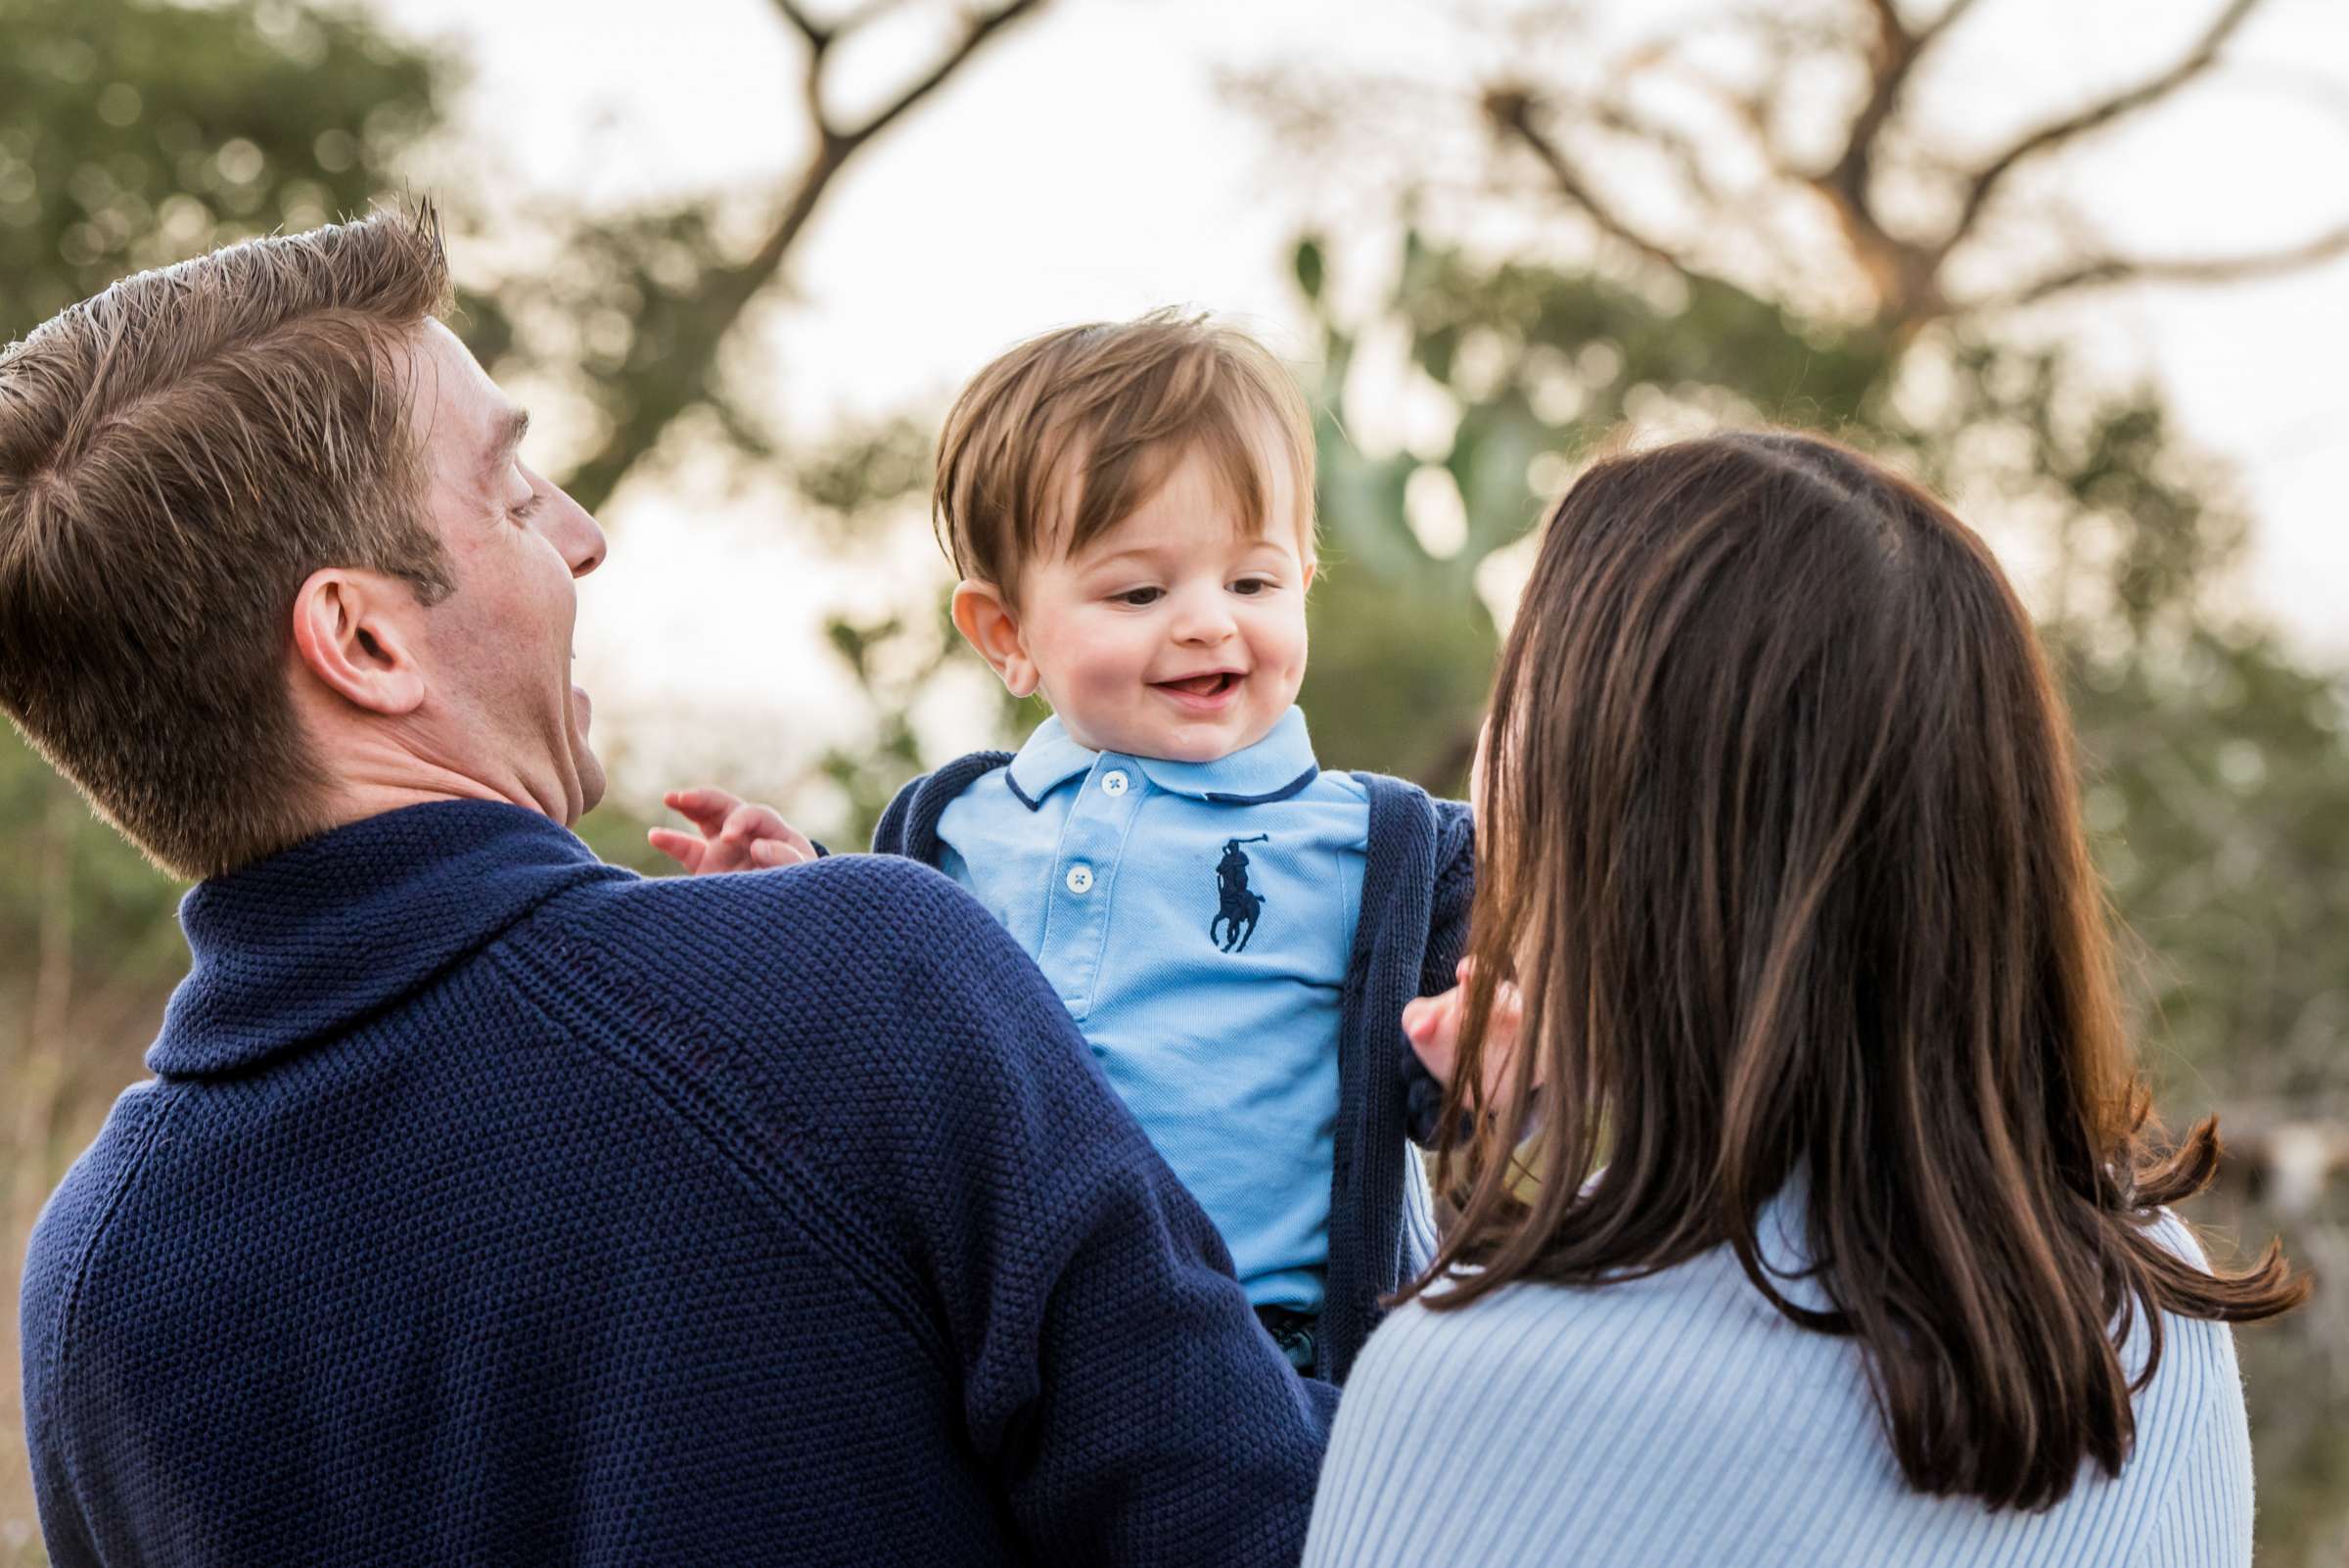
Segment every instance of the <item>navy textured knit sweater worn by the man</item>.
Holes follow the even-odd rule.
[[[200,885],[23,1286],[82,1563],[1287,1563],[1330,1392],[1012,941],[418,805]]]

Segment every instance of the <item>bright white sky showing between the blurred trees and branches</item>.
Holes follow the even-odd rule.
[[[2220,0],[1985,0],[1919,108],[1957,138],[2001,134],[2135,80]],[[583,200],[740,183],[773,190],[799,150],[799,45],[766,0],[371,0],[474,61],[467,157]],[[817,7],[822,9],[822,7]],[[942,406],[996,350],[1043,326],[1196,303],[1299,350],[1287,242],[1311,192],[1217,73],[1285,61],[1372,73],[1485,66],[1489,33],[1419,0],[1059,0],[1001,38],[836,185],[792,265],[796,298],[756,345],[794,425]],[[1687,26],[1715,0],[1600,0],[1607,28]],[[1910,7],[1921,9],[1921,7]],[[935,16],[935,12],[928,12]],[[923,7],[850,52],[850,106],[928,59]],[[2159,120],[2084,146],[2053,188],[2102,232],[2159,254],[2304,237],[2349,218],[2349,7],[2269,0],[2229,66]],[[2330,99],[2326,96],[2330,94]],[[2114,369],[2159,376],[2187,430],[2229,458],[2260,519],[2250,592],[2311,653],[2349,660],[2349,263],[2222,291],[2105,293],[2081,315]],[[599,725],[660,777],[726,768],[782,789],[846,732],[820,606],[942,575],[824,559],[787,519],[681,477],[622,493],[611,566],[587,594],[580,667]],[[627,631],[625,646],[608,634]],[[977,711],[968,692],[940,723]],[[773,737],[773,739],[768,739]],[[740,758],[766,758],[747,772]]]

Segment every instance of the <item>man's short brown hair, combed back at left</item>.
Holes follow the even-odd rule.
[[[324,826],[301,582],[451,587],[404,378],[446,289],[425,207],[141,272],[0,352],[0,709],[179,876]]]

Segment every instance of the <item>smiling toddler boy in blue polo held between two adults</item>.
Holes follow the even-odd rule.
[[[1313,427],[1247,336],[1167,312],[989,364],[940,441],[954,624],[1052,707],[1017,753],[897,793],[874,850],[968,887],[1036,958],[1109,1082],[1214,1218],[1273,1340],[1344,1380],[1431,1256],[1405,1134],[1440,1087],[1402,1035],[1452,986],[1468,812],[1325,772],[1294,707],[1313,582]],[[806,840],[672,796],[693,869]]]

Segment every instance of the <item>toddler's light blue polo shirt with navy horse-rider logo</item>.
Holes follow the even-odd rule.
[[[1214,763],[1088,751],[1048,718],[937,838],[1224,1232],[1250,1303],[1318,1310],[1362,784],[1320,770],[1299,709]]]

